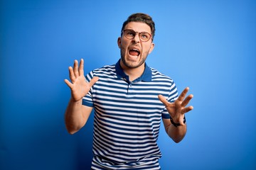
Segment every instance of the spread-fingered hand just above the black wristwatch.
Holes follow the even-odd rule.
[[[186,87],[186,89],[184,89],[181,92],[181,95],[178,96],[177,100],[174,103],[168,102],[166,98],[164,98],[164,96],[159,95],[159,100],[162,103],[164,103],[164,105],[166,106],[166,109],[171,115],[171,118],[174,120],[174,123],[180,123],[181,125],[184,125],[183,123],[184,114],[188,113],[188,111],[191,111],[193,109],[193,106],[186,107],[189,101],[191,100],[191,98],[193,98],[192,94],[186,97],[186,94],[188,93],[188,89],[189,88]]]

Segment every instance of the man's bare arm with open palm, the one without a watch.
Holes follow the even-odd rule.
[[[65,111],[65,125],[70,134],[78,132],[87,122],[92,108],[82,105],[82,97],[90,91],[90,88],[99,79],[98,77],[93,77],[92,80],[87,83],[83,67],[83,60],[80,61],[79,67],[78,60],[75,60],[74,66],[68,67],[71,82],[65,79],[65,83],[71,90],[71,98]]]

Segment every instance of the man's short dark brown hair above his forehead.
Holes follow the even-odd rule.
[[[124,23],[122,25],[121,33],[124,30],[124,27],[129,22],[146,23],[151,28],[152,40],[154,39],[156,28],[155,28],[155,24],[154,24],[154,21],[152,20],[151,16],[149,16],[146,13],[133,13],[131,16],[129,16],[127,18],[127,21],[124,21]]]

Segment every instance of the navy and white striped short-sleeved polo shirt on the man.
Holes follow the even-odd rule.
[[[92,169],[160,169],[157,145],[161,118],[170,115],[158,95],[174,102],[174,81],[145,64],[144,73],[129,81],[117,64],[95,69],[99,77],[82,104],[95,108]]]

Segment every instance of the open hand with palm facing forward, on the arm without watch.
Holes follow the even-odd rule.
[[[80,101],[82,97],[84,97],[90,88],[98,81],[98,77],[93,77],[92,80],[87,83],[84,75],[84,60],[81,59],[79,67],[78,67],[78,60],[75,60],[73,67],[68,67],[69,70],[69,77],[65,79],[65,83],[70,87],[71,90],[71,99],[73,101]]]

